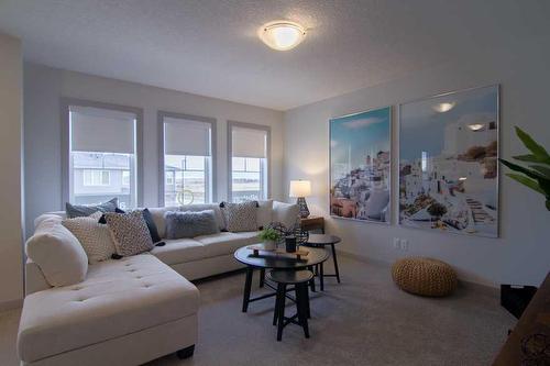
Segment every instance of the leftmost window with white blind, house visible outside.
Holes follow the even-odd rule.
[[[138,206],[135,113],[69,106],[68,200]]]

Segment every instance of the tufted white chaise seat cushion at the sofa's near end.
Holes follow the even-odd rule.
[[[25,298],[18,353],[32,363],[195,314],[198,306],[197,288],[150,254],[100,262],[79,285]]]

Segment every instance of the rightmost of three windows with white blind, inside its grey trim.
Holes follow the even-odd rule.
[[[230,200],[243,202],[267,199],[270,127],[230,122],[229,134]]]

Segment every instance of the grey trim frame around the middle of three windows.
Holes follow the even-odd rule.
[[[218,165],[217,165],[217,125],[218,120],[210,117],[202,115],[194,115],[178,112],[168,112],[168,111],[157,111],[157,133],[158,133],[158,207],[165,206],[164,200],[164,189],[165,189],[165,173],[164,173],[164,119],[173,118],[179,120],[188,120],[194,122],[202,122],[210,125],[210,165],[208,166],[208,159],[205,164],[205,175],[207,180],[212,181],[212,187],[206,187],[207,192],[211,190],[212,202],[216,202],[218,199]],[[186,163],[187,164],[187,163]],[[210,203],[212,203],[210,202]],[[208,203],[208,202],[207,202]]]

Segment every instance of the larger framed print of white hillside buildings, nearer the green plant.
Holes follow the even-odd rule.
[[[498,236],[498,86],[399,106],[399,222]]]

